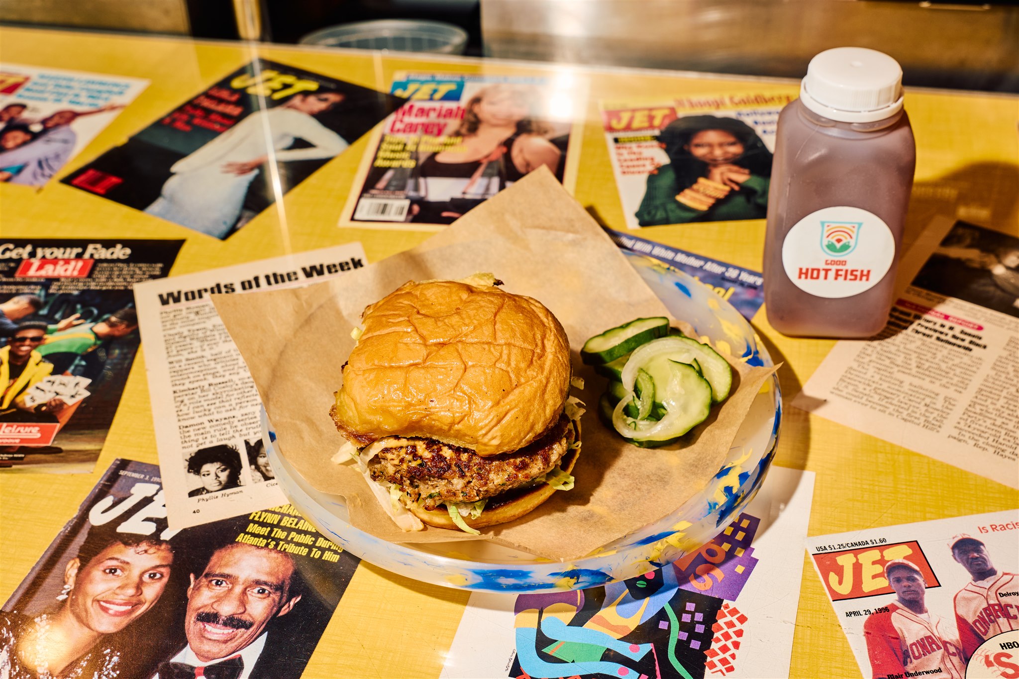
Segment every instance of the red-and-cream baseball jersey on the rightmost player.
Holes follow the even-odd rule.
[[[996,634],[1019,629],[1019,575],[999,573],[967,582],[955,598],[956,625],[969,658]]]

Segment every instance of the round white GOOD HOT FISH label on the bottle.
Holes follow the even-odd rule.
[[[877,285],[895,261],[895,236],[880,217],[840,206],[812,212],[789,230],[782,264],[812,295],[852,297]]]

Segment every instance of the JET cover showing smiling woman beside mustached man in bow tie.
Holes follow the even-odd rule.
[[[290,505],[169,530],[117,459],[0,610],[0,677],[297,679],[357,565]]]

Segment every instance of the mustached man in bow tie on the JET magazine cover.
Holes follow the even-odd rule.
[[[301,601],[298,580],[284,552],[244,543],[217,550],[201,574],[191,574],[186,644],[159,665],[153,679],[299,677],[304,665],[281,662],[287,654],[273,649],[267,629]]]

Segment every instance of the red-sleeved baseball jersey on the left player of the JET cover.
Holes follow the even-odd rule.
[[[897,603],[888,613],[871,613],[863,636],[874,679],[902,679],[907,672],[926,671],[924,679],[963,679],[966,663],[951,621],[934,613],[930,620]]]

